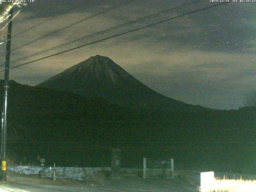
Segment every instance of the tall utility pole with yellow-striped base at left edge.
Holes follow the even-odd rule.
[[[2,153],[2,180],[6,181],[6,129],[7,129],[7,97],[8,97],[8,81],[9,81],[9,67],[10,67],[10,50],[12,37],[12,15],[13,8],[9,12],[8,18],[8,33],[6,43],[6,57],[4,66],[4,99],[2,110],[2,136],[1,136],[1,153]]]

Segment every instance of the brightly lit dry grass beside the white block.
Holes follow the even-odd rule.
[[[199,189],[199,191],[201,191]],[[214,179],[214,182],[202,192],[256,192],[256,180]]]

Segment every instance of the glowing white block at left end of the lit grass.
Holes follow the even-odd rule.
[[[201,192],[207,192],[214,185],[214,172],[202,172],[200,173],[200,179]]]

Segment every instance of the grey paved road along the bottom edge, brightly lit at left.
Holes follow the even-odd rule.
[[[107,186],[21,184],[6,182],[0,192],[198,192],[196,187],[178,180],[111,180]]]

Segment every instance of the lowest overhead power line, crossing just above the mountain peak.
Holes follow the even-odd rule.
[[[68,49],[68,50],[65,50],[65,51],[62,51],[62,52],[59,52],[59,53],[56,53],[56,54],[52,54],[52,55],[49,55],[49,56],[45,56],[43,58],[40,58],[40,59],[36,59],[36,60],[33,60],[33,61],[30,61],[30,62],[26,62],[24,64],[20,64],[20,65],[17,65],[17,66],[13,66],[11,67],[10,69],[13,69],[13,68],[17,68],[17,67],[20,67],[20,66],[24,66],[26,64],[30,64],[30,63],[33,63],[33,62],[36,62],[36,61],[40,61],[40,60],[43,60],[43,59],[46,59],[46,58],[50,58],[52,56],[56,56],[56,55],[59,55],[59,54],[62,54],[62,53],[66,53],[66,52],[69,52],[69,51],[72,51],[72,50],[76,50],[78,48],[82,48],[82,47],[85,47],[85,46],[89,46],[89,45],[92,45],[92,44],[95,44],[95,43],[98,43],[98,42],[102,42],[104,40],[108,40],[108,39],[111,39],[111,38],[114,38],[114,37],[118,37],[118,36],[121,36],[121,35],[124,35],[124,34],[128,34],[130,32],[134,32],[134,31],[138,31],[138,30],[141,30],[141,29],[144,29],[144,28],[147,28],[147,27],[151,27],[151,26],[154,26],[156,24],[160,24],[160,23],[163,23],[163,22],[166,22],[166,21],[170,21],[170,20],[173,20],[173,19],[176,19],[176,18],[180,18],[182,16],[186,16],[186,15],[189,15],[189,14],[193,14],[193,13],[196,13],[196,12],[200,12],[200,11],[203,11],[203,10],[207,10],[207,9],[210,9],[210,8],[214,8],[216,6],[220,6],[220,5],[223,5],[223,4],[226,4],[228,2],[224,2],[224,3],[220,3],[220,4],[215,4],[215,5],[212,5],[212,6],[208,6],[208,7],[205,7],[205,8],[201,8],[201,9],[198,9],[198,10],[195,10],[195,11],[192,11],[192,12],[188,12],[188,13],[184,13],[184,14],[181,14],[179,16],[175,16],[175,17],[172,17],[172,18],[168,18],[168,19],[165,19],[165,20],[162,20],[162,21],[159,21],[159,22],[155,22],[153,24],[149,24],[149,25],[146,25],[146,26],[143,26],[143,27],[140,27],[140,28],[136,28],[136,29],[133,29],[133,30],[129,30],[127,32],[123,32],[123,33],[120,33],[120,34],[116,34],[114,36],[110,36],[110,37],[107,37],[107,38],[103,38],[103,39],[100,39],[100,40],[97,40],[97,41],[94,41],[94,42],[90,42],[88,44],[84,44],[84,45],[81,45],[81,46],[78,46],[78,47],[75,47],[75,48],[72,48],[72,49]],[[0,72],[3,72],[4,70],[0,71]]]

